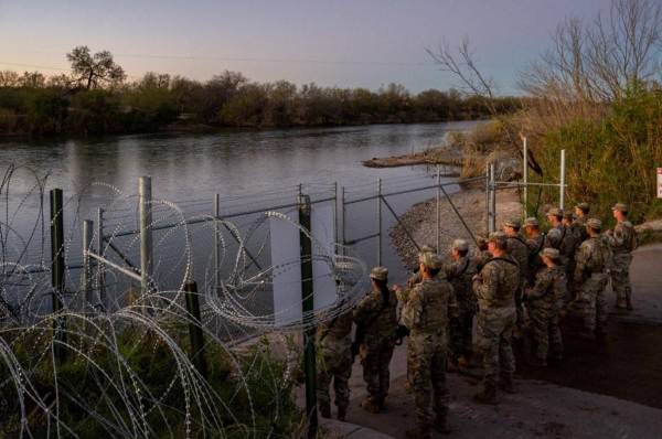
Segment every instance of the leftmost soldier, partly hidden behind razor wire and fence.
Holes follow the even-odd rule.
[[[350,405],[348,382],[352,374],[352,312],[345,311],[318,326],[318,406],[324,418],[331,417],[329,387],[333,379],[338,419],[344,420]]]

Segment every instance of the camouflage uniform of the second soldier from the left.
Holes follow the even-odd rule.
[[[365,328],[360,354],[369,399],[376,406],[382,406],[388,395],[388,366],[397,329],[395,293],[388,290],[386,299],[383,299],[381,291],[373,289],[354,310],[356,324],[370,325]]]

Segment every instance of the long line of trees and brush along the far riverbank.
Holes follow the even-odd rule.
[[[389,84],[366,88],[257,83],[237,72],[210,81],[149,72],[126,82],[109,52],[75,47],[68,75],[0,72],[0,133],[97,135],[196,126],[280,128],[435,122],[489,116],[485,98],[450,89],[409,93]],[[489,98],[500,113],[515,97]]]

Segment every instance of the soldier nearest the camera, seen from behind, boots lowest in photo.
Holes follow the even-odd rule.
[[[431,429],[449,432],[446,349],[448,319],[456,309],[450,283],[436,277],[441,260],[433,254],[420,257],[423,280],[410,291],[401,323],[409,329],[407,370],[416,404],[417,428],[407,438],[431,438]]]

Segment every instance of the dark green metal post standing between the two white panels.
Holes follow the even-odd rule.
[[[308,437],[314,438],[318,430],[317,415],[317,371],[314,358],[314,335],[316,328],[310,324],[312,312],[314,311],[314,299],[312,296],[312,243],[310,236],[310,196],[299,195],[299,224],[301,232],[300,254],[301,254],[301,296],[303,322],[308,328],[303,330],[303,372],[306,374],[306,413],[308,414]],[[305,233],[305,231],[307,233]],[[307,321],[308,317],[308,321]]]

